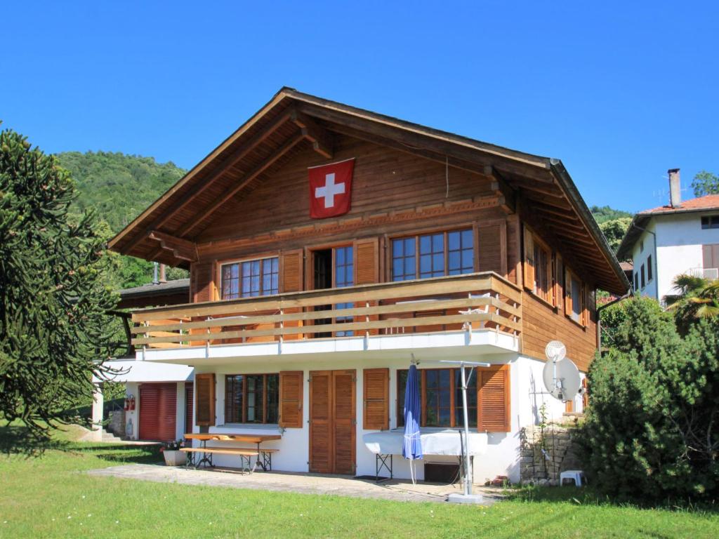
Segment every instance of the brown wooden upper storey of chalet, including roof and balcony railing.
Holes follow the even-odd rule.
[[[311,219],[308,167],[348,158],[351,210]],[[537,359],[560,339],[585,370],[597,347],[595,290],[627,283],[577,196],[561,162],[283,90],[111,247],[191,269],[193,305],[134,313],[138,346],[470,323],[517,336]],[[471,231],[470,275],[393,282],[393,241],[452,231]],[[318,287],[315,254],[341,247],[354,253],[351,285]],[[275,257],[272,295],[223,300],[224,264]],[[439,305],[406,306],[433,295]]]

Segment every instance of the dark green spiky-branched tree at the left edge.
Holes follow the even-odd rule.
[[[0,416],[40,440],[76,419],[114,351],[104,239],[91,213],[68,215],[73,198],[54,157],[0,132]]]

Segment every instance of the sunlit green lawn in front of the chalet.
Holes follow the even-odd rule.
[[[135,482],[82,472],[157,462],[156,449],[75,443],[58,433],[42,456],[12,453],[0,427],[0,538],[492,537],[715,538],[713,512],[611,505],[577,489],[521,490],[493,507]]]

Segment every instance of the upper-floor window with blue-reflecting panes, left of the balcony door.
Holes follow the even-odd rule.
[[[223,300],[277,294],[278,257],[222,264],[220,289]]]

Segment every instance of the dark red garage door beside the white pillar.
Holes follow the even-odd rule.
[[[175,439],[177,384],[142,384],[139,387],[139,438]]]

